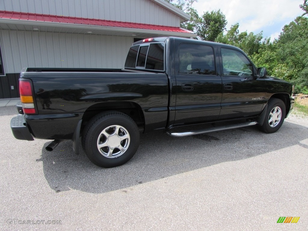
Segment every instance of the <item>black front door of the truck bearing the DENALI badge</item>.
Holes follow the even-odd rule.
[[[265,105],[265,81],[243,52],[221,47],[222,100],[219,119],[258,115]]]

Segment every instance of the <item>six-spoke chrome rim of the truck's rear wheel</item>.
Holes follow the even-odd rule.
[[[121,156],[129,147],[128,131],[120,125],[105,128],[98,136],[97,148],[103,156],[115,158]]]

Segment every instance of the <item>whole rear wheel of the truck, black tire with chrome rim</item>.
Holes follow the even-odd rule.
[[[82,135],[82,144],[93,164],[112,168],[125,164],[137,151],[140,133],[132,118],[117,111],[94,116]]]

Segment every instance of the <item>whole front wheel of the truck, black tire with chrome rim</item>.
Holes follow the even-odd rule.
[[[267,104],[263,125],[259,127],[262,132],[277,132],[286,117],[286,105],[281,99],[272,98]]]

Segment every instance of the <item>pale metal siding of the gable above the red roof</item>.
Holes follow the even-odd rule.
[[[149,0],[0,0],[0,10],[180,26],[180,18]]]

